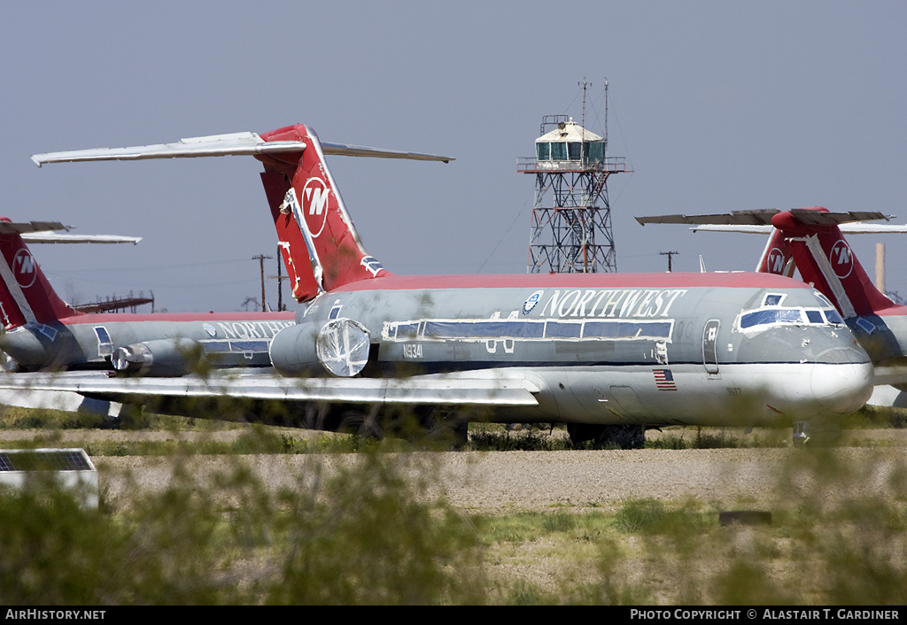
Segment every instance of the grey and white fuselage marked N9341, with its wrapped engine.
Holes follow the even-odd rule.
[[[767,274],[387,276],[312,300],[271,360],[285,376],[346,357],[356,371],[333,373],[531,379],[539,405],[500,421],[790,423],[849,414],[872,391],[869,357],[825,308]],[[368,354],[345,354],[363,331]]]

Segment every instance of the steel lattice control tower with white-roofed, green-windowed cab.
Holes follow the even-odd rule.
[[[606,155],[607,131],[600,137],[567,115],[545,115],[539,133],[535,156],[517,163],[535,174],[526,273],[616,271],[608,177],[631,171],[624,157]]]

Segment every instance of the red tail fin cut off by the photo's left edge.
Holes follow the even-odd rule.
[[[0,317],[6,329],[26,323],[52,323],[78,313],[57,297],[44,272],[34,261],[15,224],[5,217],[0,222],[10,224],[0,229]],[[5,230],[5,231],[4,231]]]

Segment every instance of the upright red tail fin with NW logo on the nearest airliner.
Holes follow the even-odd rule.
[[[265,164],[261,178],[284,261],[295,274],[297,300],[312,298],[319,290],[388,275],[359,240],[315,132],[296,124],[261,138],[306,143],[301,152],[257,156]]]

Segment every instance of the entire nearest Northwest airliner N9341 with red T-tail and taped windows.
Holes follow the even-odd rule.
[[[271,341],[274,372],[216,384],[191,376],[32,376],[21,384],[118,398],[227,393],[359,406],[379,423],[400,405],[420,415],[483,407],[469,418],[566,423],[574,441],[624,446],[639,446],[645,428],[658,425],[805,421],[818,430],[871,393],[863,347],[824,296],[791,278],[391,273],[366,252],[325,154],[446,157],[322,144],[297,124],[33,160],[228,154],[264,164],[270,216],[302,305],[296,324]]]

